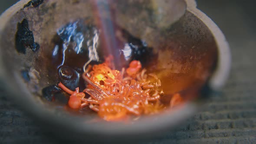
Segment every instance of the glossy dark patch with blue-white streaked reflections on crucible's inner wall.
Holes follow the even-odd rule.
[[[82,68],[89,59],[98,62],[101,56],[98,52],[98,33],[91,18],[79,19],[59,28],[52,40],[55,44],[51,56],[53,65],[76,69]]]

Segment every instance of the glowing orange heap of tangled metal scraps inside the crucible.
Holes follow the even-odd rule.
[[[88,66],[82,75],[88,83],[83,92],[79,92],[79,88],[73,92],[59,83],[71,95],[70,108],[89,106],[106,121],[120,121],[130,115],[155,114],[165,108],[160,101],[164,92],[156,75],[146,74],[146,69],[141,69],[141,62],[137,60],[133,60],[126,70],[115,70],[112,60],[113,57],[108,56],[104,63]],[[174,95],[171,107],[181,101],[179,94]]]

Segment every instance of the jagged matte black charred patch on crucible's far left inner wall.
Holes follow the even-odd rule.
[[[15,35],[16,50],[25,54],[26,49],[32,49],[36,52],[40,46],[34,42],[33,32],[29,29],[29,23],[26,19],[23,19],[21,23],[17,24],[17,32]]]

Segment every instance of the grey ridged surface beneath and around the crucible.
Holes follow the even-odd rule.
[[[253,0],[198,0],[198,7],[220,26],[233,56],[232,70],[221,95],[187,125],[150,144],[256,143],[256,19]],[[0,143],[63,143],[49,136],[0,90]]]

